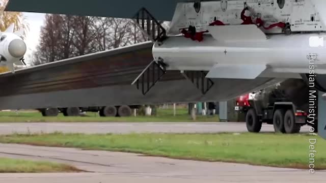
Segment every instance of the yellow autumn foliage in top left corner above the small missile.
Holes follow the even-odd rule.
[[[9,0],[0,0],[0,31],[5,31],[12,23],[15,23],[15,31],[24,29],[24,36],[29,29],[29,25],[24,22],[25,18],[21,12],[7,12],[5,8]]]

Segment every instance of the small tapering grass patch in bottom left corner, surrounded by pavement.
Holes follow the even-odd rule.
[[[59,163],[0,158],[0,173],[52,173],[80,171],[82,170],[78,170],[70,165]]]

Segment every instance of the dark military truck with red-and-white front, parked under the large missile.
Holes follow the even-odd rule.
[[[239,97],[235,110],[246,113],[249,132],[260,132],[266,123],[273,125],[275,132],[299,133],[307,124],[307,113],[295,106],[278,85]]]

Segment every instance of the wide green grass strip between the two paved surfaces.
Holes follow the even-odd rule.
[[[0,136],[2,143],[124,151],[150,156],[307,169],[307,134],[32,134]],[[315,168],[326,169],[326,141],[317,137]]]

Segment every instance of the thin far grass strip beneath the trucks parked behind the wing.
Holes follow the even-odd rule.
[[[176,116],[172,109],[159,109],[156,116],[100,117],[96,112],[87,112],[87,116],[44,117],[40,112],[0,112],[0,123],[8,122],[217,122],[219,117],[198,115],[192,120],[187,109],[177,109]]]

